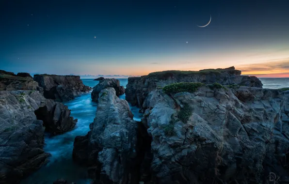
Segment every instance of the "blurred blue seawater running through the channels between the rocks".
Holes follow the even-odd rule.
[[[93,79],[82,79],[83,83],[89,87],[94,87],[99,81]],[[119,79],[121,86],[126,86],[128,79]],[[125,99],[125,94],[120,96]],[[75,128],[65,134],[49,137],[45,135],[44,150],[51,154],[49,163],[34,172],[21,184],[52,184],[53,181],[64,178],[68,182],[77,184],[89,184],[87,169],[76,165],[72,161],[73,142],[76,136],[84,136],[89,131],[89,124],[93,122],[96,115],[97,104],[91,101],[91,94],[83,94],[74,100],[64,103],[71,109],[71,116],[78,119]],[[142,114],[139,108],[131,107],[134,119],[141,120]]]

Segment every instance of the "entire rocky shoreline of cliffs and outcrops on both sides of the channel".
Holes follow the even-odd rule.
[[[90,88],[79,77],[36,75],[35,83],[0,72],[0,183],[18,183],[48,162],[44,131],[75,126],[60,101]],[[234,67],[129,77],[126,90],[102,78],[91,97],[95,120],[75,135],[72,158],[93,184],[263,184],[271,173],[289,182],[289,91],[263,89]],[[141,122],[128,103],[141,108]]]

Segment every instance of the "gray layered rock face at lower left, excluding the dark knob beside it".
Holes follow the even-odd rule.
[[[0,183],[18,183],[48,162],[43,122],[34,110],[45,106],[38,91],[0,91]]]

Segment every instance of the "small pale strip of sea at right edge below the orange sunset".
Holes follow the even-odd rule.
[[[259,78],[263,88],[279,89],[289,87],[289,78]]]

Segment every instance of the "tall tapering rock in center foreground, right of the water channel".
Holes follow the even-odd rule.
[[[101,90],[91,131],[76,137],[73,149],[74,160],[90,167],[95,183],[138,184],[149,176],[141,168],[147,167],[144,160],[150,163],[145,153],[151,139],[132,118],[128,102],[119,99],[113,88]]]

